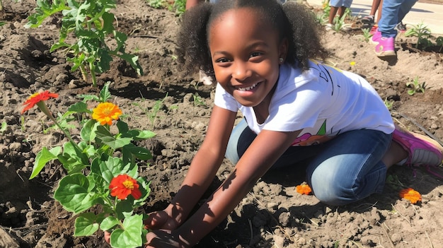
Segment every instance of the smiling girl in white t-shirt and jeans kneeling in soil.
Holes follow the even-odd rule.
[[[367,81],[309,60],[326,54],[316,30],[292,2],[222,0],[185,13],[178,54],[188,69],[214,71],[215,106],[180,190],[149,216],[146,247],[192,247],[271,168],[309,160],[315,196],[343,205],[381,192],[393,164],[442,163],[437,142],[395,129]],[[231,175],[190,215],[225,153]]]

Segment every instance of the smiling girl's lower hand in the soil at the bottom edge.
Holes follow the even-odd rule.
[[[146,235],[145,248],[188,248],[190,244],[171,230],[155,230]]]

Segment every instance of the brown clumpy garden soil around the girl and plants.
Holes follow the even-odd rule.
[[[22,103],[38,90],[59,93],[47,101],[50,110],[65,112],[78,94],[98,89],[71,72],[63,51],[49,52],[58,40],[59,18],[40,28],[25,29],[35,1],[4,1],[0,20],[0,247],[108,247],[101,233],[73,237],[73,218],[54,202],[54,188],[64,170],[50,163],[29,180],[35,155],[43,146],[67,141],[50,129],[37,108],[20,112]],[[313,8],[313,11],[318,9]],[[151,195],[140,212],[164,208],[185,177],[192,156],[202,143],[213,105],[214,85],[196,85],[198,75],[187,75],[174,58],[175,13],[149,7],[146,1],[117,1],[113,11],[118,30],[130,35],[127,51],[139,56],[144,76],[120,60],[99,76],[107,81],[113,101],[122,108],[133,128],[156,132],[144,141],[154,159],[142,164],[141,175],[151,180]],[[391,107],[395,121],[406,129],[443,140],[443,55],[415,49],[416,40],[399,35],[398,60],[384,61],[364,41],[358,20],[350,33],[329,32],[324,43],[330,64],[366,78]],[[352,63],[351,63],[352,62]],[[354,64],[355,63],[355,64]],[[418,77],[424,93],[408,94],[406,83]],[[195,100],[197,99],[197,100]],[[159,104],[159,112],[153,107]],[[240,118],[240,117],[239,117]],[[362,141],[364,142],[364,141]],[[226,160],[209,191],[215,189],[233,166]],[[443,175],[443,168],[433,169]],[[304,171],[270,172],[253,187],[237,208],[195,247],[441,247],[443,244],[443,181],[422,167],[396,166],[389,170],[383,194],[374,194],[347,206],[326,206],[315,196],[295,191]],[[412,205],[398,191],[412,187],[422,201]],[[207,194],[205,197],[209,196]],[[202,199],[204,201],[204,199]]]

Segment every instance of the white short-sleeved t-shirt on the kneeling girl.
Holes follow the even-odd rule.
[[[357,129],[393,132],[389,110],[364,78],[316,61],[310,61],[309,67],[302,73],[288,64],[280,66],[269,116],[263,124],[258,124],[253,107],[240,105],[218,83],[214,104],[233,112],[240,110],[255,134],[263,129],[301,130],[292,146],[322,143]]]

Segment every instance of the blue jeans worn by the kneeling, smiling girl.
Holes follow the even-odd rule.
[[[232,131],[226,158],[235,165],[255,137],[243,119]],[[387,168],[381,158],[391,140],[381,131],[347,131],[320,145],[289,147],[270,170],[307,160],[306,181],[317,199],[345,205],[383,191]]]

